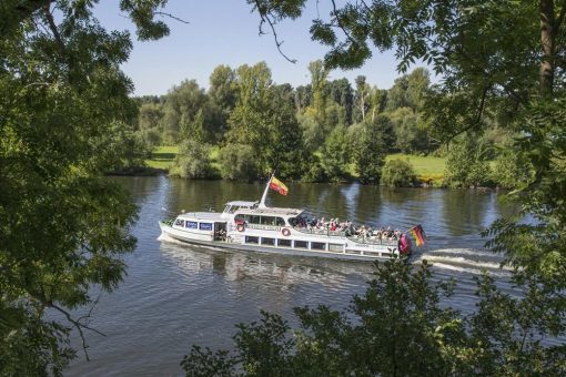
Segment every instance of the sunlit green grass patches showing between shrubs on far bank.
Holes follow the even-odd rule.
[[[145,163],[149,167],[169,171],[173,166],[178,153],[179,146],[176,145],[158,146],[153,151],[151,160],[145,161]],[[218,157],[219,149],[213,147],[211,150],[211,161],[212,166],[215,169],[219,169]],[[446,159],[444,157],[395,153],[387,155],[385,159],[387,161],[394,159],[408,161],[413,165],[418,180],[424,183],[439,184],[444,176],[444,167],[446,165]],[[353,166],[352,173],[355,176]]]

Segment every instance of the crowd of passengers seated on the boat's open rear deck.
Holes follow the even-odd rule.
[[[371,226],[356,226],[350,220],[341,222],[340,218],[325,220],[324,217],[313,217],[307,220],[305,217],[295,218],[295,223],[292,224],[294,227],[300,230],[306,230],[309,232],[343,232],[346,236],[356,236],[361,238],[381,240],[381,241],[397,241],[401,237],[398,230],[392,230],[391,226],[372,228]]]

